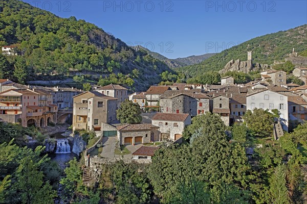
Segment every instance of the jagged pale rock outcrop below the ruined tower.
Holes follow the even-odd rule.
[[[248,73],[250,71],[256,71],[260,69],[266,69],[268,68],[269,65],[267,64],[259,64],[259,63],[254,63],[252,60],[247,60],[247,61],[240,61],[237,59],[236,61],[230,60],[224,67],[224,69],[218,71],[220,74],[223,74],[227,71],[240,71],[244,73]]]

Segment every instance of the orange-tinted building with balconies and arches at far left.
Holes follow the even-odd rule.
[[[53,104],[42,103],[52,101],[45,93],[37,93],[29,89],[12,89],[0,93],[0,120],[20,123],[27,127],[35,125],[45,127],[50,122],[57,122],[57,108]]]

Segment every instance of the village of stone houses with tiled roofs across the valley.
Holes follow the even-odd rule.
[[[295,54],[290,54],[295,55]],[[251,52],[248,53],[251,60]],[[293,71],[306,79],[307,68]],[[278,110],[274,123],[275,140],[283,131],[293,130],[307,119],[307,85],[287,84],[287,73],[272,68],[260,71],[261,78],[235,84],[233,77],[221,78],[220,85],[174,83],[150,86],[143,92],[128,93],[115,84],[93,86],[92,91],[76,88],[29,86],[0,80],[0,120],[27,127],[46,127],[55,123],[72,124],[73,133],[95,131],[102,143],[99,157],[120,158],[115,146],[125,146],[125,159],[151,159],[162,141],[181,143],[182,134],[194,116],[217,114],[229,126],[244,121],[248,110]],[[142,109],[139,124],[121,124],[116,110],[125,100]],[[87,149],[85,159],[93,148]],[[81,149],[84,150],[84,149]],[[90,166],[90,162],[89,162]]]

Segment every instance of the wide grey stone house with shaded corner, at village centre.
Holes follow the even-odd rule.
[[[191,91],[168,91],[178,93],[176,95],[161,95],[160,107],[162,113],[188,113],[191,116],[204,114],[210,111],[210,97],[204,93],[193,93]]]

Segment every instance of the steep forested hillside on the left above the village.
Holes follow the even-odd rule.
[[[0,75],[14,76],[20,82],[84,73],[85,81],[95,82],[93,74],[122,73],[113,78],[126,86],[144,88],[160,82],[159,74],[169,70],[163,62],[136,52],[92,23],[60,18],[17,0],[0,3],[0,45],[17,46],[18,57],[1,58]],[[20,67],[22,64],[26,66]],[[134,69],[137,74],[129,74]]]

